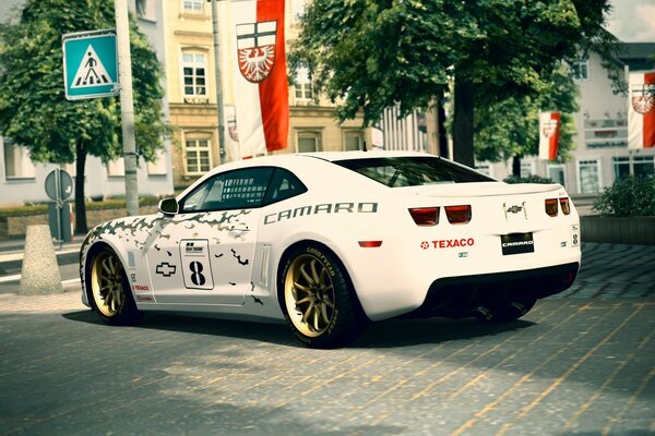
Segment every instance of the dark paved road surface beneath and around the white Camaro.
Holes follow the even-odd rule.
[[[0,434],[653,435],[653,256],[588,245],[521,320],[395,319],[329,351],[284,325],[116,328],[78,292],[3,293]]]

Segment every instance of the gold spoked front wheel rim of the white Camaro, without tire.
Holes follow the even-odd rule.
[[[114,253],[102,252],[93,261],[91,289],[98,311],[107,317],[115,316],[123,306],[122,267]]]

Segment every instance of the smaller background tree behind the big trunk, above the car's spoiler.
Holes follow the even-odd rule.
[[[474,122],[475,155],[493,162],[539,152],[539,112],[559,111],[560,135],[558,158],[567,160],[574,148],[579,90],[569,70],[560,65],[540,85],[536,95],[512,96],[497,102],[479,105]],[[519,167],[520,165],[514,165]],[[514,175],[520,175],[514,171]]]

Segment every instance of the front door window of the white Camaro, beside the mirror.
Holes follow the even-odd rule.
[[[249,209],[263,204],[273,168],[247,168],[217,174],[182,199],[180,210]]]

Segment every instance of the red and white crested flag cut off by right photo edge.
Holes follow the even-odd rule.
[[[655,147],[655,72],[631,73],[629,86],[628,146]]]

